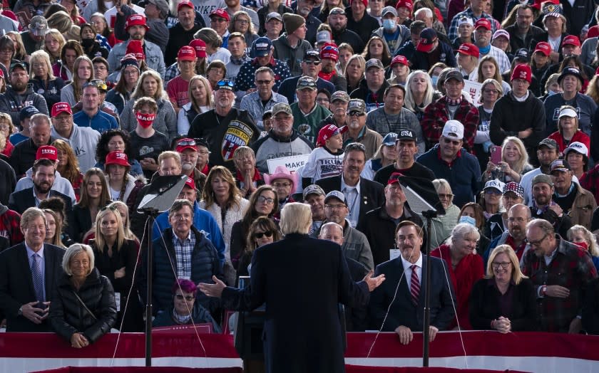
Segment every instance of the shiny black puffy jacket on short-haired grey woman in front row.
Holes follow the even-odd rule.
[[[71,341],[74,333],[82,333],[90,343],[96,342],[110,332],[116,321],[111,282],[100,275],[98,268],[93,268],[81,288],[76,290],[71,284],[71,276],[63,273],[58,279],[48,318],[52,329],[65,340]]]

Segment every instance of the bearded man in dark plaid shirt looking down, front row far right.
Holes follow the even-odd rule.
[[[588,251],[564,241],[543,219],[528,223],[526,239],[521,266],[535,285],[538,329],[578,333],[585,291],[597,278]]]

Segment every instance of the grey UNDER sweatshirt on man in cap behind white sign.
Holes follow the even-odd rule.
[[[256,154],[256,167],[262,173],[268,172],[267,159],[290,157],[292,155],[310,154],[314,145],[306,137],[293,130],[288,138],[280,137],[272,130],[268,135],[252,145]]]

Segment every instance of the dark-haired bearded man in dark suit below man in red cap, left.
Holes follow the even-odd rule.
[[[9,197],[9,209],[23,214],[23,211],[29,207],[39,206],[39,202],[43,199],[58,196],[64,201],[67,216],[71,217],[73,210],[71,197],[52,190],[56,177],[56,164],[50,159],[40,158],[36,160],[32,169],[34,173],[31,175],[31,179],[34,181],[34,186],[13,192]]]

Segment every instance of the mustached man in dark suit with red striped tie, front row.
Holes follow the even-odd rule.
[[[420,253],[423,235],[424,230],[414,222],[399,223],[395,231],[399,256],[379,264],[374,270],[375,275],[384,274],[386,281],[370,296],[372,327],[396,332],[403,345],[411,342],[412,332],[424,329],[424,278],[427,268],[426,256]],[[444,266],[444,261],[431,258],[431,342],[439,330],[449,326],[455,315],[456,297],[451,283],[446,280],[448,269]],[[387,310],[389,315],[386,315]]]

